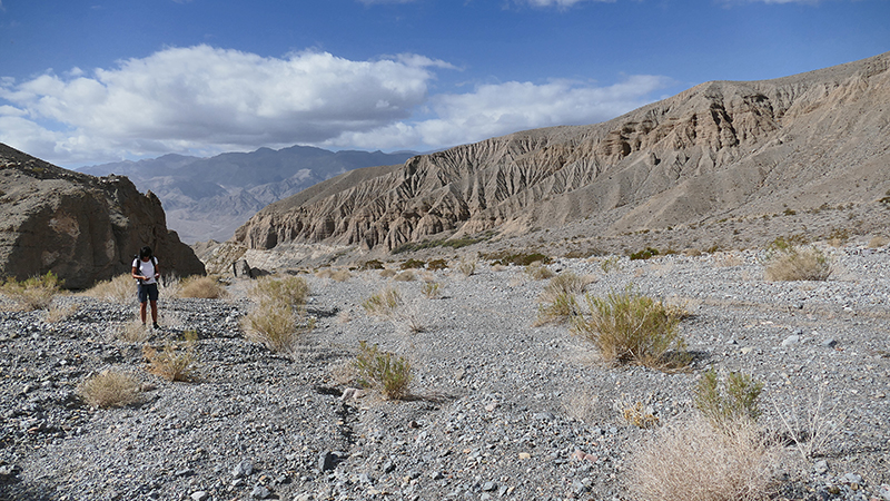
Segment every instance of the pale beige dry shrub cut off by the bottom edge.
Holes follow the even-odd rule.
[[[657,430],[640,446],[630,490],[641,501],[764,500],[775,458],[755,423],[719,430],[696,415]]]

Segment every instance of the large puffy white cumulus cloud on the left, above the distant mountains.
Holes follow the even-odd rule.
[[[46,144],[55,136],[51,151],[29,153],[67,151],[68,160],[322,143],[407,118],[427,99],[435,68],[449,66],[415,55],[350,61],[327,52],[264,58],[170,48],[91,75],[3,79],[0,99],[11,106],[0,118],[17,127],[0,129],[0,140]]]

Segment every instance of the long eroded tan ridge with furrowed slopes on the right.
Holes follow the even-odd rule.
[[[584,217],[621,234],[873,202],[890,188],[888,61],[703,84],[607,122],[350,173],[266,207],[235,239],[392,249],[443,232],[521,233]]]

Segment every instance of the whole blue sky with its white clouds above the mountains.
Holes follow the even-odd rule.
[[[0,0],[0,143],[425,151],[890,50],[890,0]]]

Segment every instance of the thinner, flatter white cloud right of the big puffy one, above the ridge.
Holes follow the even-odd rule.
[[[434,149],[538,127],[596,124],[651,102],[654,91],[671,84],[665,77],[632,76],[609,87],[568,80],[484,85],[468,94],[434,96],[429,119],[345,132],[327,146]]]

